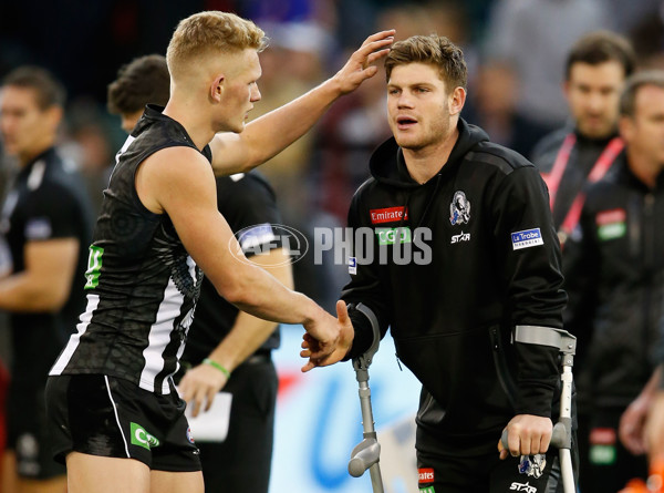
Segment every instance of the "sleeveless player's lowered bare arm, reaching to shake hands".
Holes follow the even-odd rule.
[[[319,342],[312,359],[325,360],[336,349],[340,326],[334,317],[247,261],[217,209],[215,179],[203,155],[180,146],[156,152],[138,167],[136,191],[148,210],[168,214],[183,245],[220,296],[256,317],[302,323]]]

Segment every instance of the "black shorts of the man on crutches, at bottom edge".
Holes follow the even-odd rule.
[[[530,456],[528,464],[520,458],[501,461],[498,451],[478,456],[433,455],[417,453],[421,493],[551,493],[562,492],[558,450],[549,449],[546,463]],[[543,465],[539,468],[538,465]]]

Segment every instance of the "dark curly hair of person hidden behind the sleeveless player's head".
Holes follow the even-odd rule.
[[[136,113],[147,103],[165,106],[168,102],[170,76],[166,57],[148,54],[132,60],[117,71],[108,84],[107,107],[113,114]]]

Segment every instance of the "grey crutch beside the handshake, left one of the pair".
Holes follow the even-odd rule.
[[[381,343],[381,333],[378,321],[374,314],[364,305],[359,304],[356,310],[363,312],[373,327],[373,343],[371,348],[362,356],[353,358],[353,369],[355,378],[360,386],[360,407],[362,409],[362,428],[364,439],[353,449],[349,462],[349,473],[353,477],[360,477],[369,469],[371,474],[371,484],[374,493],[383,493],[383,477],[381,476],[381,444],[376,439],[374,429],[373,412],[371,410],[371,389],[369,388],[369,367],[373,356],[378,350]]]

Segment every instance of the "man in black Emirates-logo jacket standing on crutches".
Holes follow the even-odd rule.
[[[391,327],[398,359],[423,384],[421,491],[554,489],[558,351],[510,341],[518,326],[562,327],[544,184],[459,117],[466,64],[448,39],[395,43],[385,68],[394,138],[373,154],[373,177],[351,204],[350,226],[370,239],[356,240],[349,263],[339,304],[354,340],[335,358],[363,353],[374,325],[381,335]],[[506,428],[509,450],[499,444]]]

